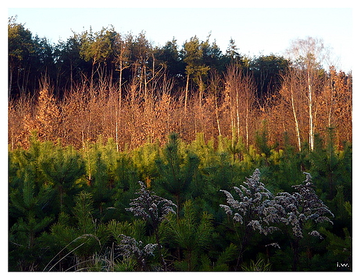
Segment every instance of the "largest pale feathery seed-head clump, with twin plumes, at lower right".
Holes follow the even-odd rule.
[[[250,178],[246,178],[247,187],[234,187],[239,200],[235,200],[228,191],[222,191],[226,194],[227,205],[220,204],[220,207],[225,210],[226,214],[233,216],[235,222],[245,226],[241,240],[240,261],[245,250],[244,246],[247,245],[250,238],[250,230],[257,230],[267,235],[279,229],[280,225],[285,225],[285,229],[289,227],[292,234],[293,270],[296,270],[305,222],[332,223],[329,217],[334,217],[334,215],[316,195],[311,175],[309,173],[304,174],[306,175],[305,181],[303,184],[293,186],[294,193],[278,193],[278,195],[273,196],[260,182],[260,171],[258,169]],[[322,238],[316,230],[309,231],[309,235]],[[276,243],[272,245],[274,244]]]

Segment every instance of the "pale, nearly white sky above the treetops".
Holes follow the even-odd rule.
[[[156,1],[144,3],[147,5],[134,8],[90,8],[91,2],[82,8],[37,8],[32,4],[35,8],[8,8],[8,17],[17,15],[17,23],[52,43],[68,39],[73,32],[114,26],[121,34],[143,31],[156,46],[174,38],[181,47],[195,35],[206,40],[210,34],[210,42],[216,41],[223,53],[232,38],[238,51],[250,57],[284,55],[292,40],[311,36],[322,39],[331,49],[337,69],[348,72],[353,67],[351,8],[209,8],[215,7],[211,1],[203,7],[192,5],[197,8],[162,8],[166,5],[156,5]],[[148,3],[156,8],[148,8]]]

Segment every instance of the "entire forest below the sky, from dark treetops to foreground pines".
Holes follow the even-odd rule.
[[[352,73],[210,37],[10,17],[9,271],[352,271]]]

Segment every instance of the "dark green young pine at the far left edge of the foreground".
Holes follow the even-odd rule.
[[[45,248],[40,236],[53,221],[43,209],[51,201],[51,190],[37,186],[33,166],[17,173],[10,180],[9,216],[16,222],[9,231],[9,270],[36,270]]]

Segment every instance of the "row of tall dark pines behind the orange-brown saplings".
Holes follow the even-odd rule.
[[[165,73],[174,79],[176,91],[182,87],[201,89],[207,84],[210,70],[222,73],[233,61],[255,73],[259,94],[264,94],[268,88],[276,87],[277,74],[287,66],[287,60],[277,55],[247,58],[239,53],[234,40],[222,53],[215,40],[210,42],[210,35],[205,41],[195,35],[182,46],[174,38],[164,46],[154,46],[145,32],[120,34],[110,26],[96,32],[90,28],[73,33],[68,39],[51,44],[46,37],[34,37],[16,22],[16,17],[9,19],[8,34],[9,97],[34,94],[43,76],[51,80],[56,96],[63,96],[84,82],[114,83],[121,91],[136,77],[145,87]]]

